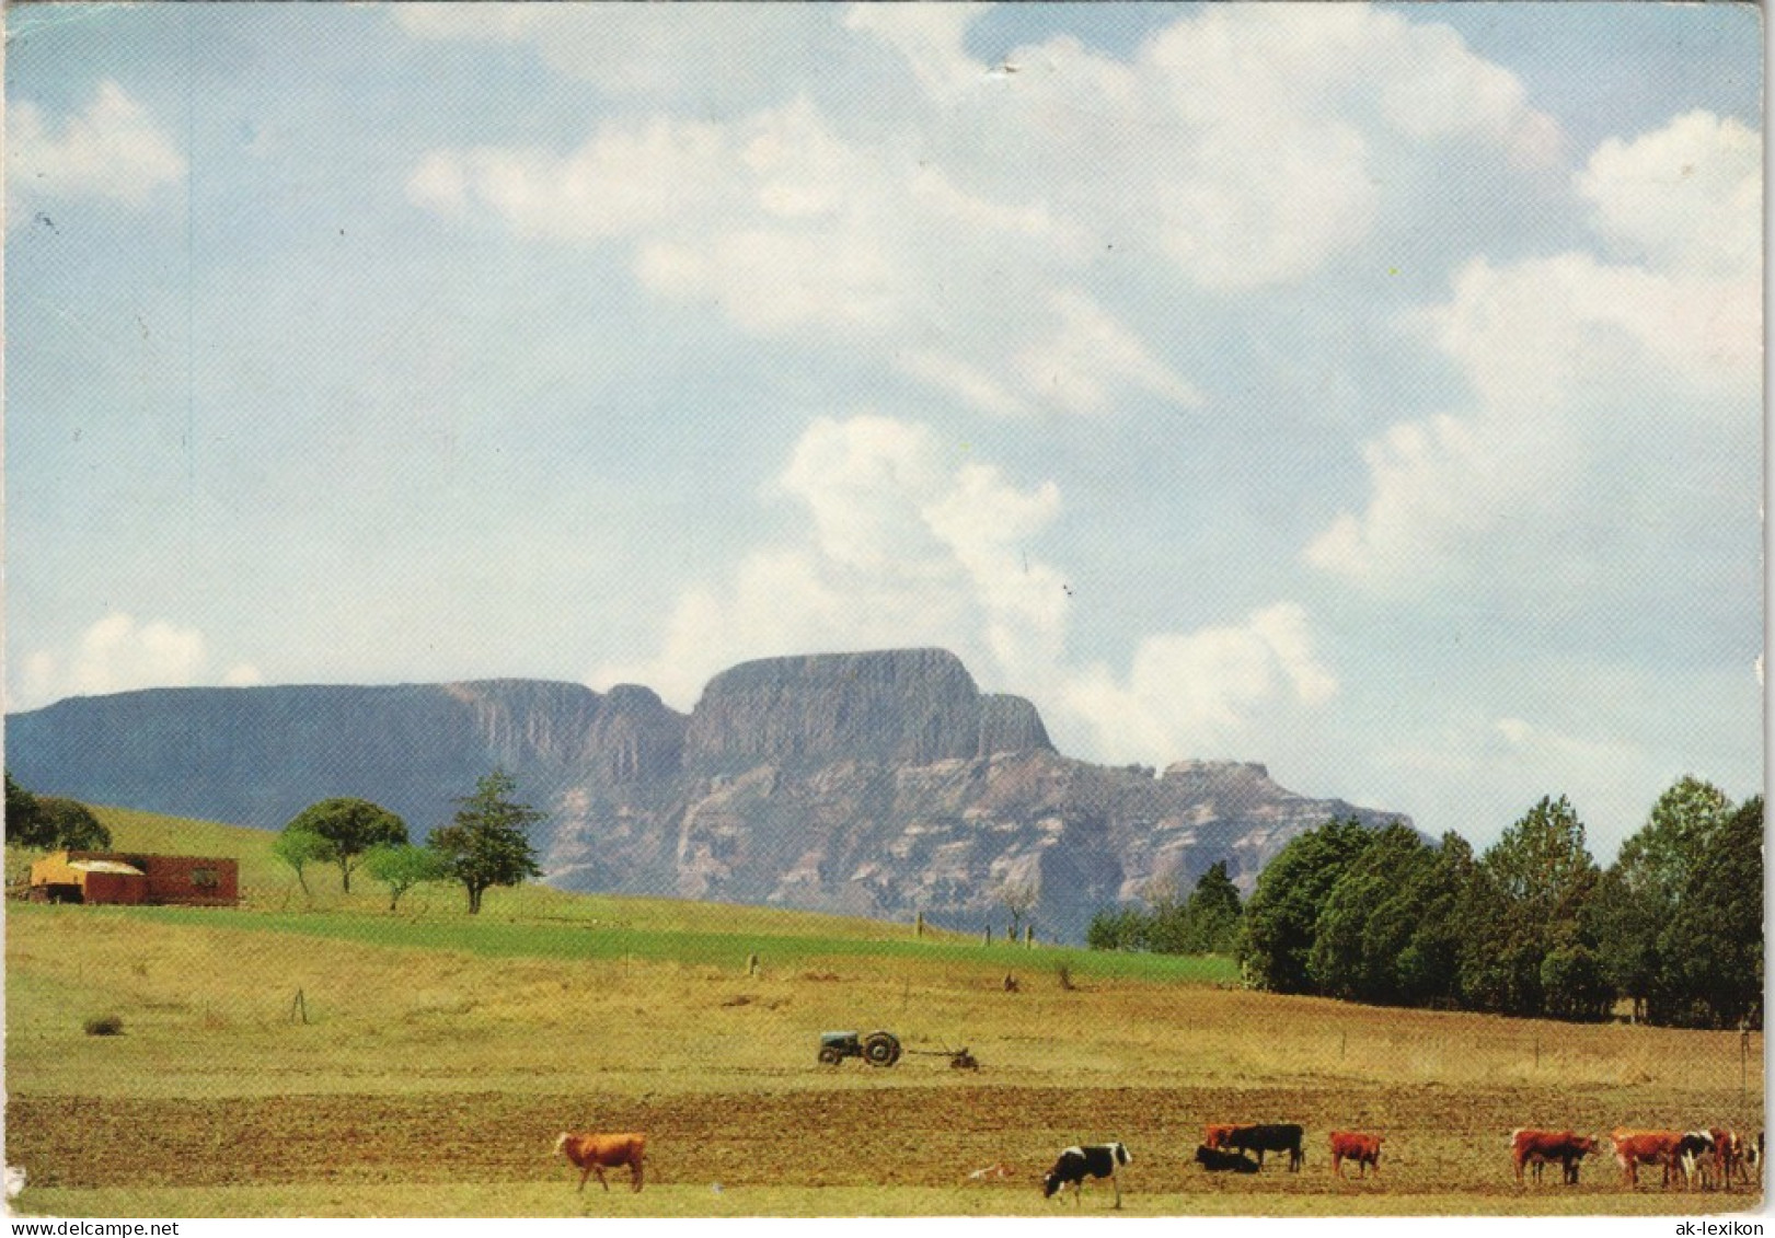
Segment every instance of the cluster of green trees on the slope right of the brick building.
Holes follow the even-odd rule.
[[[311,803],[277,835],[272,853],[296,873],[309,890],[309,864],[339,867],[339,885],[351,892],[351,873],[362,869],[389,890],[389,910],[406,890],[424,881],[454,881],[469,896],[469,913],[481,910],[481,896],[495,885],[518,885],[541,876],[529,841],[532,825],[545,818],[511,796],[517,780],[495,770],[476,782],[474,795],[454,800],[456,816],[431,830],[415,846],[406,823],[369,800],[334,798]]]

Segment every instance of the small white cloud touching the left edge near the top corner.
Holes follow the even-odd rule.
[[[9,197],[32,202],[103,197],[138,208],[185,179],[185,156],[115,82],[59,121],[30,99],[11,103],[5,163]]]

